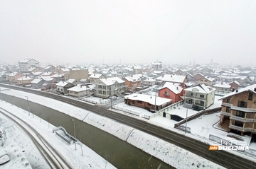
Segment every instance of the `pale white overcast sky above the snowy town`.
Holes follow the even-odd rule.
[[[0,63],[252,64],[256,1],[0,1]]]

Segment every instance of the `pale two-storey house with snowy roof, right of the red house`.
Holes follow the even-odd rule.
[[[198,84],[185,89],[185,103],[192,104],[197,110],[204,110],[213,105],[215,88]]]

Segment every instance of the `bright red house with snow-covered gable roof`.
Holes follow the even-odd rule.
[[[183,88],[178,83],[166,82],[162,88],[159,89],[159,97],[169,98],[172,103],[183,100],[181,96],[184,95]]]

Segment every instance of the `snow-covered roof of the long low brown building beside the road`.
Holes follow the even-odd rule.
[[[146,103],[149,103],[151,105],[164,105],[165,103],[171,102],[171,99],[168,98],[160,98],[160,97],[155,97],[151,95],[143,95],[139,93],[134,93],[132,95],[127,95],[124,97],[125,99],[130,99],[130,100],[139,100],[143,101]]]

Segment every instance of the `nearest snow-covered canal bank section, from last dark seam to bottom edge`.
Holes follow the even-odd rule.
[[[174,168],[223,168],[190,151],[139,130],[134,130],[127,142],[172,165]]]

